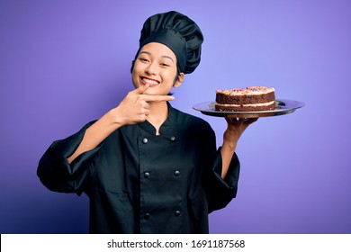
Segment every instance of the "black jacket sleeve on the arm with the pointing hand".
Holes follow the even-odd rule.
[[[67,139],[54,141],[40,158],[37,175],[49,190],[59,193],[83,193],[86,179],[91,174],[91,164],[102,144],[76,157],[71,164],[68,163],[67,157],[75,152],[85,135],[85,130],[93,123],[94,121],[87,123]]]

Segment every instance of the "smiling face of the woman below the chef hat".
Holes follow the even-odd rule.
[[[184,74],[176,75],[175,53],[156,42],[148,43],[139,50],[131,73],[135,87],[149,85],[144,94],[162,95],[168,94],[172,86],[181,85]]]

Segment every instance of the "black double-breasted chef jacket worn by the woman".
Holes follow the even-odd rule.
[[[85,130],[52,143],[38,175],[49,190],[86,193],[91,233],[208,233],[208,213],[236,196],[238,157],[220,177],[221,156],[211,126],[168,103],[156,135],[144,121],[112,132],[68,164]]]

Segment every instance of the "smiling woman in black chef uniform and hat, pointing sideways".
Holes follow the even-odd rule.
[[[208,233],[208,213],[236,196],[235,148],[256,120],[227,119],[217,150],[206,121],[169,103],[200,63],[202,40],[183,14],[149,17],[131,69],[135,90],[41,157],[50,190],[88,195],[90,232]]]

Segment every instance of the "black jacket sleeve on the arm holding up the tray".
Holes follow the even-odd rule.
[[[204,186],[207,194],[209,212],[226,207],[229,202],[236,197],[238,191],[238,176],[240,163],[238,156],[234,153],[229,164],[229,170],[226,177],[221,178],[222,159],[220,148],[216,150],[216,139],[214,132],[209,134],[207,157],[209,166],[204,174]]]

